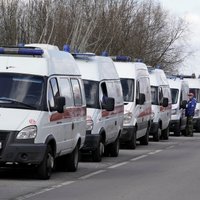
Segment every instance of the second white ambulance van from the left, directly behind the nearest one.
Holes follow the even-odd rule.
[[[119,76],[112,59],[95,54],[74,54],[81,72],[87,104],[87,132],[82,153],[99,162],[102,155],[118,156],[123,129],[124,102]],[[107,91],[104,91],[107,90]],[[102,105],[103,92],[113,100],[113,108]]]

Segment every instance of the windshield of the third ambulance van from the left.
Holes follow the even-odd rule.
[[[122,91],[125,102],[134,101],[134,79],[121,78]]]

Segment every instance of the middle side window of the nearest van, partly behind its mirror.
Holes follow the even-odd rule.
[[[68,78],[62,77],[59,79],[60,95],[66,99],[66,107],[72,107],[74,105],[71,84]]]

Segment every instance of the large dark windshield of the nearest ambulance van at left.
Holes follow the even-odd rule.
[[[44,78],[27,74],[0,74],[0,107],[40,109]]]

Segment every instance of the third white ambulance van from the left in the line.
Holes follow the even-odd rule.
[[[148,145],[151,123],[151,88],[147,66],[130,57],[113,57],[122,84],[124,123],[120,144],[136,148],[136,140]]]

